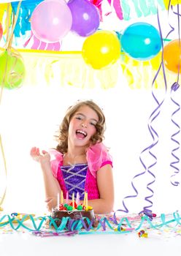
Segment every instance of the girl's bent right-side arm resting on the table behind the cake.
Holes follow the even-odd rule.
[[[113,211],[114,185],[111,165],[104,165],[97,171],[97,184],[100,199],[88,200],[96,214],[106,214]]]

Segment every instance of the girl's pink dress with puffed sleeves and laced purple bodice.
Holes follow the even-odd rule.
[[[103,143],[97,143],[88,148],[86,152],[88,164],[63,165],[61,152],[56,150],[49,152],[53,176],[58,180],[64,198],[66,198],[66,192],[69,192],[70,199],[73,192],[75,196],[79,192],[80,200],[83,200],[84,192],[88,192],[88,200],[100,198],[97,171],[104,165],[112,166],[112,157]]]

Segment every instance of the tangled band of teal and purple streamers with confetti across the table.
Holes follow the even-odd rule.
[[[128,234],[133,231],[135,234],[139,232],[138,235],[141,235],[141,233],[145,233],[145,230],[149,230],[152,233],[153,230],[157,233],[160,230],[163,233],[163,227],[166,227],[166,233],[169,232],[170,228],[174,233],[177,231],[177,234],[179,234],[181,217],[178,211],[173,214],[161,214],[160,217],[153,218],[153,220],[147,214],[132,214],[126,217],[112,217],[111,214],[101,214],[101,216],[98,216],[97,227],[94,227],[93,222],[90,222],[87,217],[74,219],[72,222],[69,222],[69,219],[69,217],[63,218],[61,225],[58,227],[55,219],[50,216],[36,217],[34,214],[2,215],[0,217],[0,227],[2,232],[4,232],[5,227],[10,227],[12,232],[17,232],[17,230],[22,230],[23,233],[31,231],[34,236],[40,237],[84,235],[88,233],[95,234],[95,232]],[[68,222],[70,223],[69,225],[67,225]],[[51,223],[54,229],[47,228],[45,230],[47,223]]]

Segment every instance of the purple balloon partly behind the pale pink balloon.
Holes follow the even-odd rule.
[[[90,1],[70,0],[68,6],[72,12],[72,31],[88,37],[99,28],[99,11]]]

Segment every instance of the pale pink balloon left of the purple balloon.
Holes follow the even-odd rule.
[[[58,42],[71,29],[72,13],[63,0],[42,1],[31,15],[31,30],[43,42]]]

